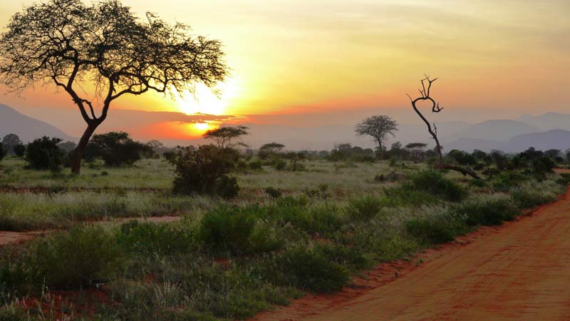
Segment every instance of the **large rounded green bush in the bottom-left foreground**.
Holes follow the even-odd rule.
[[[122,257],[113,235],[96,226],[72,228],[40,240],[33,249],[35,280],[51,289],[106,282]]]

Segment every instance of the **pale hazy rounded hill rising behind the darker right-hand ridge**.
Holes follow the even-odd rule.
[[[514,136],[525,133],[534,133],[540,131],[537,126],[532,126],[522,121],[512,121],[507,119],[495,119],[476,123],[462,131],[458,131],[452,135],[453,140],[460,138],[477,138],[492,141],[507,141]],[[447,139],[445,141],[450,141]]]

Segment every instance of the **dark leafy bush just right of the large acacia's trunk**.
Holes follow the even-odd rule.
[[[83,158],[87,161],[102,158],[105,165],[113,167],[132,166],[143,153],[152,153],[152,148],[133,141],[128,133],[113,131],[93,136],[83,152]]]

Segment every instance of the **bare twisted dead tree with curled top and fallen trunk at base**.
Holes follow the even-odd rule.
[[[410,102],[412,103],[412,107],[414,108],[415,113],[420,116],[422,121],[425,123],[425,126],[427,126],[427,132],[430,133],[430,136],[432,136],[432,139],[435,141],[435,151],[437,152],[437,163],[435,164],[435,168],[455,170],[462,173],[463,175],[470,175],[472,178],[479,179],[479,175],[477,175],[477,173],[475,173],[475,170],[472,170],[471,168],[465,168],[462,166],[445,163],[442,156],[442,146],[440,144],[439,138],[437,138],[437,127],[435,126],[435,123],[430,123],[427,121],[427,118],[425,118],[420,109],[418,109],[419,102],[428,101],[432,105],[432,113],[440,113],[443,110],[443,108],[440,107],[440,103],[436,102],[435,99],[430,96],[432,83],[434,83],[436,80],[437,78],[430,79],[430,76],[425,75],[425,78],[423,78],[421,81],[422,88],[418,89],[421,95],[418,98],[412,98],[412,96],[406,93],[406,95],[408,95],[408,98],[410,98]]]

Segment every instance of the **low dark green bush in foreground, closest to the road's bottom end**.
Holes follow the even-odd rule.
[[[274,268],[282,277],[279,281],[313,292],[340,290],[350,280],[346,267],[318,248],[285,250],[276,258]]]

